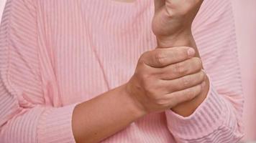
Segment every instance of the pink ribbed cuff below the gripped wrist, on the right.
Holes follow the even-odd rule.
[[[208,76],[209,77],[209,76]],[[211,134],[224,122],[227,109],[221,96],[216,92],[209,77],[209,93],[189,117],[182,117],[172,110],[165,111],[168,129],[180,139],[198,139]]]

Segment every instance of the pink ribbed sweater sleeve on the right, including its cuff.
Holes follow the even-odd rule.
[[[193,35],[210,80],[209,93],[190,117],[166,111],[177,142],[238,142],[243,136],[243,95],[229,0],[204,1]]]

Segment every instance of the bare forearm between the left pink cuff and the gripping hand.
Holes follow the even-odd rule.
[[[145,115],[124,88],[117,87],[78,104],[73,112],[76,142],[99,142]]]

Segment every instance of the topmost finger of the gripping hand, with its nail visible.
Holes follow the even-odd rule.
[[[190,59],[195,55],[195,50],[186,46],[146,51],[140,57],[140,63],[147,66],[161,68],[170,64]]]

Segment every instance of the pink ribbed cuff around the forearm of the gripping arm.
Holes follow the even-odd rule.
[[[45,109],[37,128],[39,143],[75,143],[72,129],[72,114],[76,104]]]

